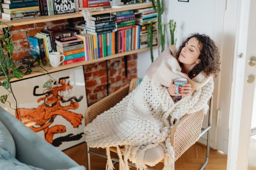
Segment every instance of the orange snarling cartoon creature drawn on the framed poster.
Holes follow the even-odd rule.
[[[78,99],[75,96],[69,97],[73,87],[70,85],[70,81],[66,84],[66,79],[68,78],[59,78],[58,83],[53,81],[53,85],[44,90],[42,94],[36,94],[36,89],[39,86],[35,86],[33,95],[45,95],[45,97],[38,99],[38,103],[42,100],[44,102],[37,108],[18,108],[16,112],[16,117],[18,115],[19,120],[34,132],[43,130],[45,132],[45,140],[51,144],[53,143],[54,134],[66,132],[64,125],[50,127],[57,115],[65,118],[74,128],[78,128],[82,124],[82,114],[68,111],[69,109],[77,109],[79,106],[78,102],[83,99],[83,96],[80,96]]]

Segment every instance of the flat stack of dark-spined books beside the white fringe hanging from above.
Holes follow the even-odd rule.
[[[100,14],[92,16],[91,24],[86,22],[86,33],[99,35],[104,33],[111,33],[115,31],[115,15]]]

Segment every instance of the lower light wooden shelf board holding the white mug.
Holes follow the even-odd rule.
[[[158,48],[158,46],[154,45],[153,48]],[[115,55],[107,56],[107,57],[100,58],[100,59],[94,59],[94,60],[89,60],[89,61],[77,62],[77,63],[73,63],[73,64],[68,64],[68,65],[60,65],[58,67],[51,67],[50,64],[49,64],[47,66],[44,66],[43,68],[45,70],[47,70],[48,73],[52,73],[52,72],[55,72],[55,71],[70,69],[70,68],[73,68],[73,67],[82,66],[82,65],[86,65],[86,64],[97,63],[97,62],[101,62],[101,61],[104,61],[104,60],[118,58],[118,57],[121,57],[121,56],[130,55],[130,54],[134,54],[134,53],[138,53],[138,52],[143,52],[143,51],[147,51],[147,50],[149,50],[149,47],[143,48],[143,49],[136,49],[136,50],[132,50],[132,51],[128,51],[128,52],[117,53]],[[26,67],[26,66],[27,65],[24,65],[24,67]],[[32,70],[33,70],[32,73],[30,73],[28,75],[24,75],[23,78],[12,78],[10,80],[10,82],[17,81],[17,80],[22,80],[24,78],[31,78],[31,77],[35,77],[35,76],[47,73],[46,71],[44,71],[40,67],[35,67]],[[38,72],[35,72],[35,71],[40,71],[42,73],[38,73]],[[5,77],[0,77],[0,82],[1,83],[3,83],[5,80],[6,80]]]

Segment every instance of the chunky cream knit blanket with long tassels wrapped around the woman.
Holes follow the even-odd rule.
[[[129,169],[128,159],[137,169],[143,170],[146,168],[143,163],[145,151],[159,144],[166,152],[164,170],[174,169],[171,128],[186,114],[201,109],[207,112],[207,101],[214,87],[213,78],[200,73],[188,80],[192,94],[174,103],[167,90],[171,79],[186,77],[174,58],[175,52],[174,47],[167,48],[150,65],[137,88],[85,127],[85,141],[89,147],[107,150],[106,170],[113,169],[110,147],[117,147],[120,170]]]

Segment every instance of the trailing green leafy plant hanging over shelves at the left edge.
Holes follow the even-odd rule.
[[[12,26],[8,26],[7,24],[3,23],[0,21],[1,26],[3,26],[4,32],[3,34],[0,35],[0,77],[5,77],[5,80],[1,83],[0,86],[3,86],[7,91],[8,94],[6,95],[1,95],[0,96],[0,101],[2,103],[6,103],[8,96],[10,93],[12,93],[12,89],[10,88],[10,80],[11,78],[22,78],[24,75],[29,74],[32,72],[32,69],[27,69],[24,66],[19,66],[18,68],[16,67],[15,63],[12,60],[11,53],[13,52],[14,49],[14,44],[13,42],[10,42],[11,39],[11,33],[10,29]],[[9,54],[9,56],[8,56]],[[37,66],[41,67],[41,66]],[[41,69],[45,70],[43,67]],[[49,75],[48,71],[45,70],[47,74]],[[41,72],[40,70],[36,72]],[[49,78],[51,80],[51,76],[49,75]],[[54,78],[52,78],[54,80]],[[43,87],[47,88],[51,86],[51,81],[47,81]]]

